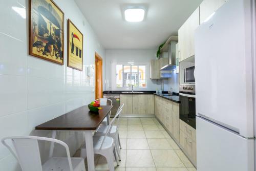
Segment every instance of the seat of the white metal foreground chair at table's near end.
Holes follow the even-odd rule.
[[[74,171],[86,171],[84,166],[84,159],[80,157],[71,158],[72,166]],[[43,171],[69,171],[68,158],[65,157],[53,157],[42,165]]]

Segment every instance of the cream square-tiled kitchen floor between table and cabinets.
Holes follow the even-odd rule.
[[[196,171],[156,118],[121,118],[121,159],[118,171]],[[109,170],[95,156],[96,170]]]

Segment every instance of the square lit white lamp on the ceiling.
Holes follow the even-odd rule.
[[[142,22],[145,19],[147,11],[145,4],[126,4],[121,8],[126,22]]]

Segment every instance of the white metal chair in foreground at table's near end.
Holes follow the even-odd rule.
[[[12,141],[14,149],[7,143],[7,140]],[[38,140],[50,141],[64,146],[67,157],[52,157],[41,164]],[[23,171],[86,171],[83,158],[71,158],[69,147],[63,141],[36,136],[5,137],[1,141],[17,159]]]

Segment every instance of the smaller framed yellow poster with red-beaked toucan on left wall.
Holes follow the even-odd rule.
[[[83,35],[68,20],[68,67],[82,71]]]

